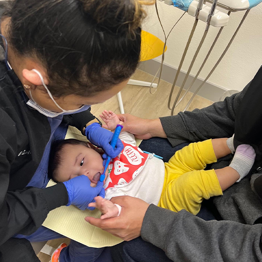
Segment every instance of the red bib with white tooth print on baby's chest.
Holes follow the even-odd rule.
[[[104,186],[105,190],[129,184],[141,172],[147,162],[148,154],[143,153],[140,148],[125,142],[123,142],[123,145],[122,152],[109,164],[110,173]]]

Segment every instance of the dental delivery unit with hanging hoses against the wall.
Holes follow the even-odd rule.
[[[159,1],[163,1],[163,0],[159,0]],[[193,98],[197,95],[197,92],[200,90],[200,88],[205,84],[205,82],[209,79],[209,77],[212,75],[213,71],[215,70],[215,68],[219,65],[219,63],[221,62],[221,60],[223,59],[223,57],[225,56],[226,52],[228,51],[230,45],[232,44],[232,41],[234,40],[236,34],[238,33],[239,29],[241,28],[243,22],[246,19],[246,16],[248,15],[249,11],[251,8],[255,7],[256,5],[258,5],[259,3],[261,3],[262,0],[164,0],[164,3],[167,5],[173,5],[175,7],[178,7],[179,9],[183,10],[184,12],[187,12],[188,15],[190,16],[194,16],[195,17],[195,22],[194,25],[192,27],[191,33],[188,37],[188,41],[187,44],[185,46],[185,49],[183,51],[181,60],[180,60],[180,64],[178,66],[176,75],[175,75],[175,79],[171,88],[171,92],[169,95],[169,99],[168,99],[168,108],[169,110],[171,110],[171,115],[174,115],[174,109],[180,104],[180,102],[183,100],[183,98],[185,98],[185,96],[187,95],[187,93],[189,92],[189,90],[191,89],[191,87],[193,86],[194,82],[197,80],[198,75],[200,74],[200,72],[202,71],[203,66],[205,66],[206,61],[208,60],[223,28],[228,24],[229,22],[229,15],[231,12],[237,12],[237,11],[246,11],[244,16],[242,17],[242,20],[239,23],[239,26],[237,27],[237,29],[235,30],[235,33],[232,35],[231,39],[229,40],[229,43],[227,45],[227,47],[224,49],[223,53],[220,55],[220,57],[218,58],[217,62],[215,63],[215,65],[213,66],[213,68],[210,70],[210,72],[208,73],[207,77],[204,79],[204,81],[198,86],[198,88],[196,89],[195,93],[192,95],[192,97],[190,98],[189,102],[187,103],[187,105],[185,106],[185,108],[182,110],[183,112],[185,110],[187,110],[187,108],[189,107],[190,103],[192,102]],[[206,3],[209,3],[209,5],[206,5]],[[212,4],[212,6],[210,6],[210,4]],[[216,8],[220,7],[220,10],[224,9],[227,10],[228,13],[224,13],[220,10],[217,10]],[[157,4],[156,4],[156,9],[157,9]],[[185,13],[183,13],[184,15]],[[183,16],[182,15],[182,16]],[[181,16],[181,17],[182,17]],[[181,18],[180,17],[180,18]],[[160,17],[158,17],[160,20]],[[198,44],[197,47],[197,51],[190,63],[190,66],[186,72],[186,75],[184,77],[184,80],[180,86],[180,90],[175,98],[175,101],[173,102],[173,106],[171,105],[171,99],[172,99],[172,95],[174,93],[174,88],[176,86],[178,77],[180,75],[180,70],[181,67],[183,65],[184,59],[186,57],[187,51],[189,49],[192,37],[195,33],[196,27],[197,27],[197,22],[201,20],[206,24],[206,28],[205,31],[203,32],[203,36],[201,38],[201,41]],[[193,81],[189,84],[186,85],[186,81],[188,80],[188,76],[190,74],[190,71],[197,59],[197,55],[198,52],[200,51],[205,38],[207,36],[207,33],[209,31],[210,26],[213,27],[217,27],[220,28],[219,31],[217,32],[217,35],[213,41],[213,44],[211,46],[211,48],[209,49],[204,61],[202,62],[202,65],[200,66],[196,76],[194,77]],[[163,26],[162,26],[163,28]],[[174,27],[173,27],[174,28]],[[172,28],[172,29],[173,29]],[[163,29],[164,31],[164,29]],[[172,31],[172,30],[171,30]],[[169,35],[169,34],[168,34]],[[161,65],[162,66],[162,65]],[[184,87],[186,87],[186,91],[184,92],[184,94],[181,96],[181,92],[184,89]],[[180,97],[181,96],[181,97]]]

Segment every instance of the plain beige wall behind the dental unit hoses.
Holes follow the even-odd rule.
[[[164,29],[166,32],[169,32],[178,18],[183,14],[183,11],[173,6],[166,5],[164,2],[158,0],[157,3]],[[200,78],[204,79],[209,73],[209,70],[216,63],[218,57],[227,46],[229,39],[237,28],[244,13],[245,11],[230,14],[229,24],[223,29],[220,38],[213,49],[213,54],[210,56],[209,61],[203,68],[202,73],[199,75]],[[164,40],[164,34],[156,15],[155,6],[147,7],[147,14],[148,16],[144,22],[143,29]],[[194,17],[185,14],[170,34],[167,42],[168,49],[165,56],[166,64],[178,68],[182,52],[191,32],[194,20]],[[187,71],[190,65],[198,43],[204,32],[205,25],[206,23],[202,21],[198,22],[194,38],[191,42],[184,65],[182,66],[183,71]],[[218,30],[219,28],[210,27],[205,43],[203,44],[203,47],[199,52],[198,59],[191,71],[193,75],[196,75],[198,68],[212,45],[213,39],[215,38]],[[161,58],[157,59],[160,60]],[[227,54],[213,72],[209,82],[225,89],[242,90],[246,83],[254,77],[261,65],[262,3],[251,9]]]

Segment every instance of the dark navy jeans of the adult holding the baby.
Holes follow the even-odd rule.
[[[188,144],[189,143],[183,143],[172,147],[167,139],[155,137],[149,140],[143,140],[139,147],[142,150],[162,156],[164,162],[168,162],[177,150],[180,150]],[[205,202],[202,203],[201,210],[197,216],[205,220],[215,219],[213,213],[210,212],[209,206]],[[171,262],[162,249],[144,241],[141,237],[129,242],[124,241],[116,246],[112,246],[110,249],[114,262]]]

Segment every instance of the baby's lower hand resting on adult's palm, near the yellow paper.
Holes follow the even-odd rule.
[[[107,200],[103,197],[95,197],[96,202],[90,203],[89,207],[98,208],[103,215],[101,219],[111,218],[118,215],[118,208],[110,200]]]

